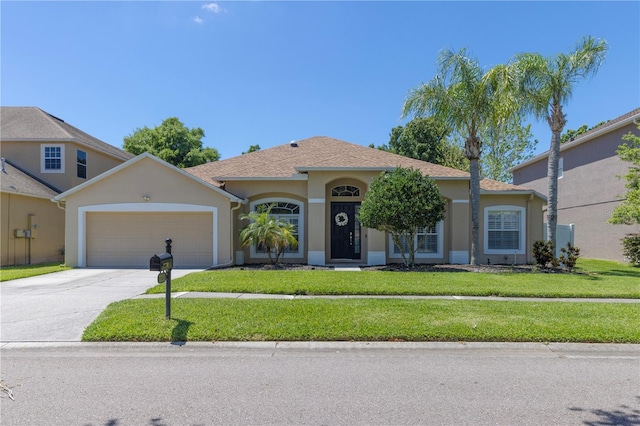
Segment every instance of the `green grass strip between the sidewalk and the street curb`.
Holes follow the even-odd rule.
[[[84,341],[640,343],[640,305],[451,300],[163,299],[110,305]]]

